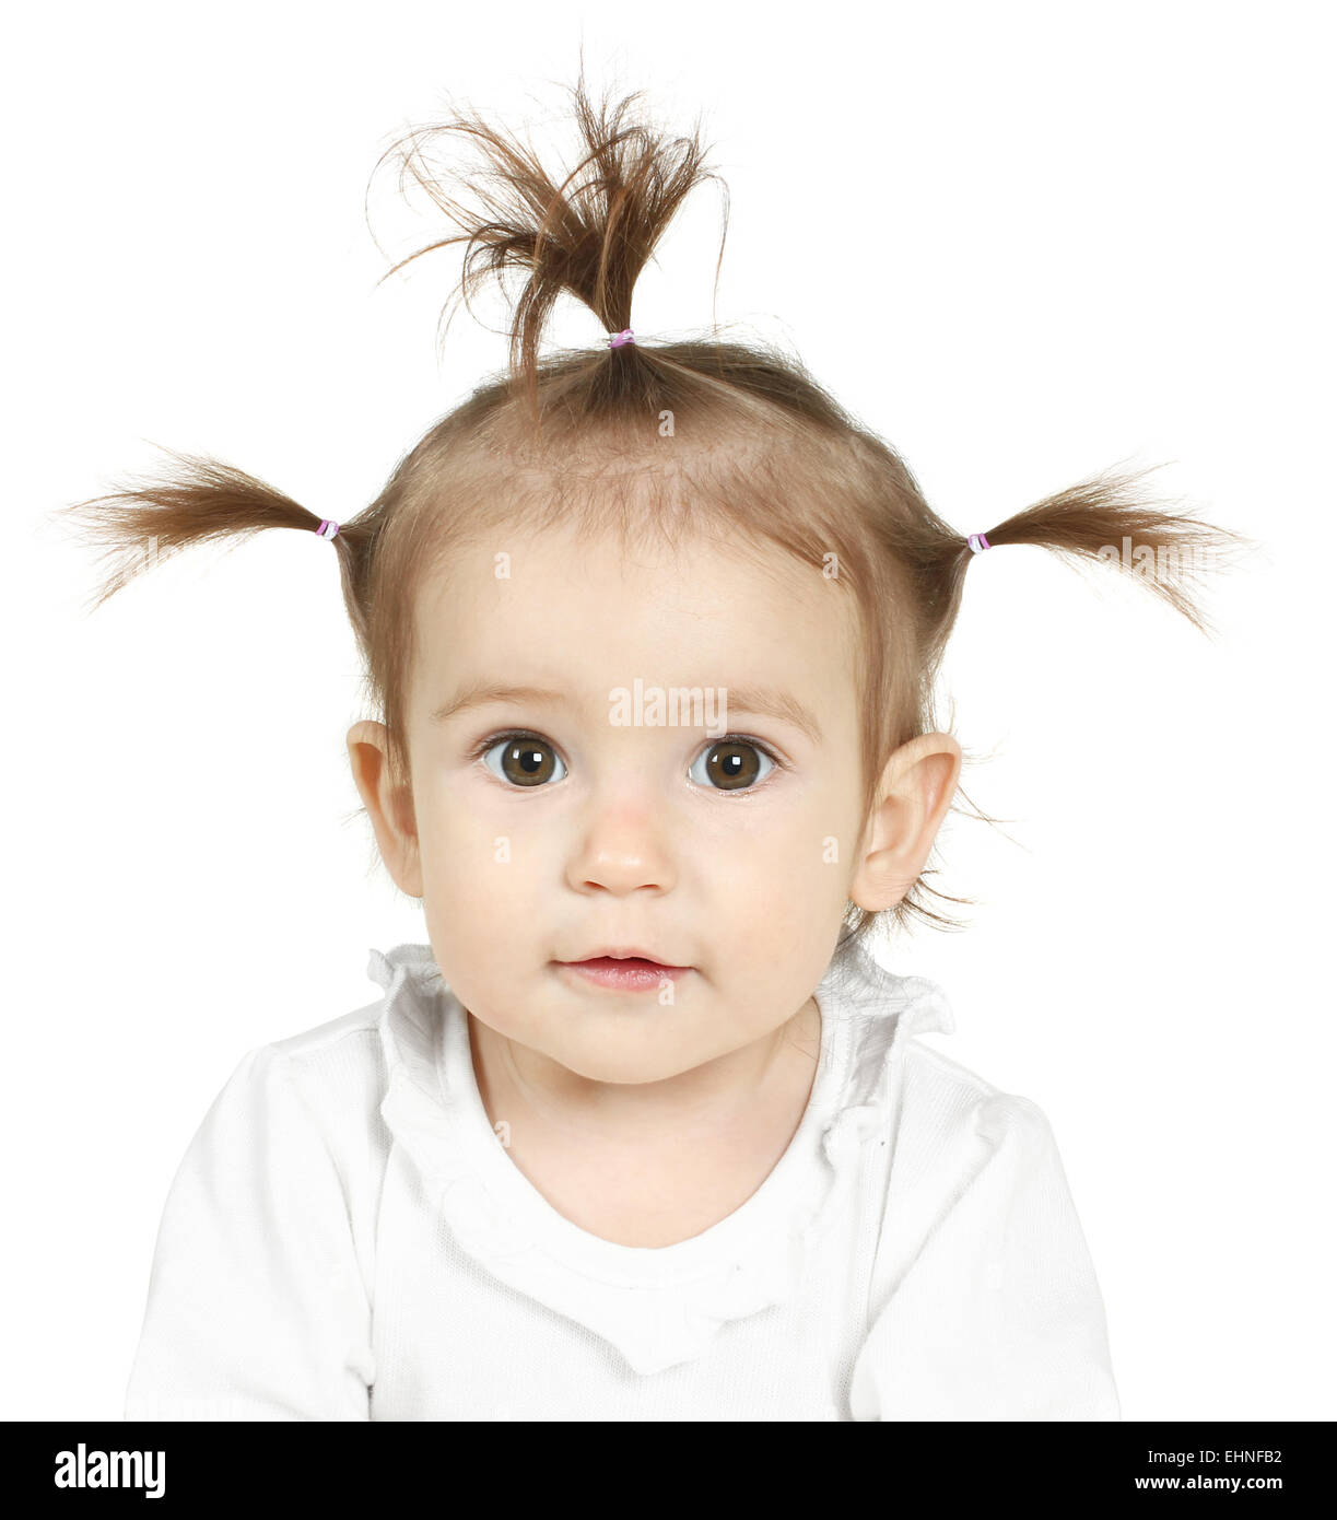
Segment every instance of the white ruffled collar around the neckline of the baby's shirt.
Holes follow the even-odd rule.
[[[468,1015],[431,947],[371,952],[384,990],[389,1088],[380,1113],[453,1236],[500,1281],[588,1325],[641,1374],[700,1356],[720,1325],[795,1295],[839,1213],[861,1142],[886,1125],[906,1041],[956,1028],[940,990],[886,971],[861,945],[833,958],[813,996],[822,1052],[808,1105],[761,1187],[726,1219],[668,1246],[582,1230],[506,1155],[479,1094]]]

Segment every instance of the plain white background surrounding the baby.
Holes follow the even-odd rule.
[[[482,17],[476,12],[482,11]],[[1337,1415],[1332,38],[1317,5],[813,14],[26,6],[8,24],[0,1414],[119,1418],[167,1186],[248,1049],[425,941],[371,860],[333,550],[201,547],[87,617],[49,514],[208,453],[343,520],[506,359],[392,172],[451,97],[644,88],[703,135],[634,325],[796,351],[962,532],[1120,461],[1252,535],[1212,640],[1114,573],[975,561],[951,649],[943,1052],[1050,1116],[1126,1420]],[[544,135],[547,132],[547,135]],[[377,248],[372,233],[380,240]],[[480,307],[500,328],[500,307]],[[552,342],[593,344],[571,307]],[[1015,842],[1012,842],[1015,841]]]

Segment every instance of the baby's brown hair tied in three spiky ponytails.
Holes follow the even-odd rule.
[[[864,648],[855,684],[868,818],[886,758],[936,727],[934,681],[974,553],[933,512],[895,450],[790,356],[719,337],[637,337],[617,348],[539,357],[564,292],[585,302],[609,333],[631,327],[632,292],[655,245],[688,192],[717,178],[705,167],[699,129],[691,137],[659,132],[634,114],[637,94],[612,108],[605,97],[596,108],[583,76],[573,96],[582,155],[561,181],[532,147],[471,111],[409,132],[387,149],[401,155],[401,188],[403,175],[412,173],[462,230],[383,278],[459,242],[466,243],[457,292],[465,301],[488,275],[526,275],[509,372],[480,385],[430,427],[380,496],[333,540],[368,695],[389,730],[392,775],[407,786],[416,593],[462,543],[503,523],[571,523],[580,532],[617,530],[623,541],[681,527],[719,535],[732,550],[779,546],[851,599]],[[466,205],[424,173],[422,144],[447,134],[473,140],[488,160],[469,181]],[[322,521],[240,470],[167,453],[175,470],[164,479],[64,509],[82,515],[112,553],[126,553],[90,610],[149,559],[187,544],[261,527],[310,532]],[[1108,471],[1045,497],[988,527],[988,543],[1053,549],[1082,562],[1117,558],[1130,541],[1158,555],[1162,570],[1171,556],[1171,572],[1188,559],[1188,575],[1139,579],[1205,629],[1185,582],[1244,540],[1143,500],[1135,486],[1144,473]],[[918,915],[951,927],[925,894],[966,901],[921,877],[889,909],[893,921]],[[863,938],[878,917],[846,904],[842,944]]]

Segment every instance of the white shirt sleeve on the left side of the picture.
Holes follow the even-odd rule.
[[[243,1056],[163,1211],[126,1420],[368,1420],[371,1306],[289,1058]]]

